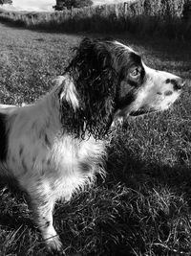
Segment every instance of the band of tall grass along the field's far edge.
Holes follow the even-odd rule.
[[[73,9],[73,12],[9,12],[0,20],[32,30],[119,33],[191,38],[191,20],[183,18],[187,0],[138,0]]]

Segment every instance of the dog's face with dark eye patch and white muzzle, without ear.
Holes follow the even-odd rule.
[[[171,73],[146,66],[135,52],[131,52],[130,56],[135,61],[120,81],[116,117],[167,109],[179,98],[184,81]]]

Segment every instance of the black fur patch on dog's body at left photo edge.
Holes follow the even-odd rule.
[[[8,152],[8,134],[6,130],[6,115],[0,113],[0,161],[6,161]]]

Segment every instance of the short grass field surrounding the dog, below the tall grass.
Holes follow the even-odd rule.
[[[0,103],[32,103],[49,91],[82,36],[0,24]],[[190,43],[113,37],[187,85],[170,110],[127,120],[109,149],[105,180],[58,202],[54,226],[66,255],[191,255]],[[1,181],[0,256],[48,255],[25,194]]]

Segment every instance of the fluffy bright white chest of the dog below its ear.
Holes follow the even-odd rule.
[[[64,137],[55,140],[49,154],[50,166],[45,169],[56,197],[69,199],[74,191],[92,183],[96,173],[102,171],[103,154],[103,143],[92,139]]]

